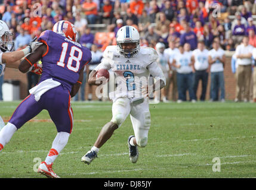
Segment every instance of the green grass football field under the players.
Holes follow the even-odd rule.
[[[8,120],[20,102],[0,102]],[[112,104],[72,102],[73,132],[54,162],[62,178],[255,178],[256,105],[252,103],[159,103],[150,105],[149,142],[129,161],[129,117],[90,165],[81,157],[112,118]],[[19,129],[0,153],[0,178],[45,178],[33,171],[44,161],[57,131],[47,111]],[[220,158],[220,172],[212,159]]]

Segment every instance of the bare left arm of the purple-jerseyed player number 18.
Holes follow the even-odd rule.
[[[23,61],[21,61],[20,65],[18,66],[18,69],[20,72],[27,72],[29,71],[30,67],[33,66],[36,62],[38,62],[41,58],[42,55],[47,51],[47,46],[46,45],[41,45],[39,46],[35,52],[30,53],[28,56],[26,56]]]

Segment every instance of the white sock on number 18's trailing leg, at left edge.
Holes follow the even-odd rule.
[[[13,137],[13,134],[16,131],[16,126],[9,122],[7,123],[7,125],[4,126],[4,128],[2,128],[2,130],[0,131],[0,144],[2,148],[4,148],[5,144],[9,143],[11,137]],[[2,150],[2,148],[0,148],[0,151]]]

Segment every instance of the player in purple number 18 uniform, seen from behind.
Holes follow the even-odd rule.
[[[73,128],[71,97],[78,92],[83,79],[84,66],[91,61],[91,51],[76,42],[76,30],[69,21],[58,21],[53,31],[41,33],[38,41],[44,43],[20,64],[27,72],[32,63],[42,61],[42,76],[38,85],[29,90],[30,95],[20,103],[7,125],[0,132],[0,151],[11,140],[14,132],[27,121],[48,110],[57,135],[38,172],[48,178],[59,178],[52,169],[53,162],[67,144]]]

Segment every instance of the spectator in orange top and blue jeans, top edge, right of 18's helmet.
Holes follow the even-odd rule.
[[[82,10],[84,14],[87,15],[87,20],[90,24],[95,24],[97,20],[97,4],[92,2],[92,0],[86,0],[82,5]]]

